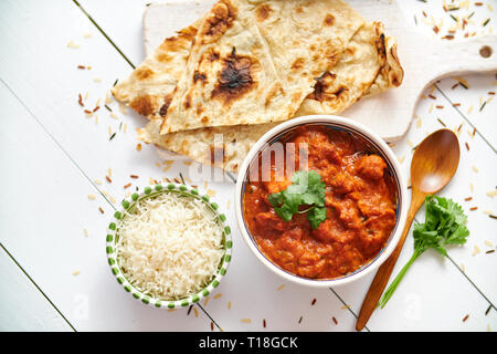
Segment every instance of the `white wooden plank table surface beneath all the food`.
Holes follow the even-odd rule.
[[[212,321],[214,331],[353,331],[373,274],[321,290],[277,278],[256,261],[236,231],[230,183],[199,186],[216,190],[234,231],[232,264],[208,302],[189,314],[187,309],[152,309],[113,278],[105,229],[119,201],[150,178],[188,171],[181,160],[165,171],[151,146],[137,150],[135,129],[144,118],[123,112],[114,101],[108,106],[117,118],[105,108],[86,117],[77,103],[82,94],[85,107],[95,107],[98,100],[103,106],[115,80],[126,77],[131,63],[144,59],[141,14],[147,2],[0,1],[0,330],[211,331]],[[470,1],[469,9],[458,11],[475,11],[468,28],[489,33],[497,22],[497,1],[482,2]],[[458,14],[444,12],[442,1],[400,6],[404,13],[399,15],[417,22],[420,35],[436,35],[431,17],[437,24],[443,19],[447,28],[450,15]],[[483,27],[486,19],[490,21]],[[487,253],[497,246],[497,220],[488,215],[497,215],[497,198],[489,196],[497,185],[497,100],[491,94],[497,77],[463,79],[469,90],[452,88],[457,81],[446,79],[425,92],[394,150],[408,174],[413,146],[442,123],[453,129],[462,125],[459,169],[441,195],[464,206],[472,235],[465,247],[450,250],[450,259],[423,254],[367,331],[497,330],[497,252]],[[130,174],[139,178],[130,179]],[[128,183],[133,186],[125,189]],[[473,199],[465,201],[468,197]],[[423,218],[420,211],[417,220]],[[412,249],[410,236],[395,273]]]

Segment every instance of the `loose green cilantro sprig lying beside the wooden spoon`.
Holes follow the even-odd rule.
[[[452,199],[427,196],[424,205],[426,208],[425,221],[414,225],[414,253],[381,298],[379,305],[382,309],[399,287],[408,269],[424,251],[433,248],[442,256],[447,257],[445,246],[464,244],[469,236],[469,230],[466,228],[467,217],[457,202]]]

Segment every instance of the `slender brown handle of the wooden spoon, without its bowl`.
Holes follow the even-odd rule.
[[[393,250],[392,254],[387,259],[387,261],[381,264],[380,269],[374,275],[374,279],[369,287],[368,293],[366,294],[364,301],[362,302],[361,311],[359,312],[359,316],[356,323],[356,330],[362,331],[366,324],[369,321],[372,312],[378,305],[380,301],[381,294],[383,293],[387,283],[389,282],[390,275],[392,274],[393,268],[395,267],[396,259],[399,258],[400,252],[402,251],[402,247],[404,246],[405,238],[411,229],[411,223],[414,220],[414,217],[423,205],[425,195],[422,192],[416,192],[413,190],[411,206],[408,211],[408,219],[405,221],[404,230],[402,231],[399,243]]]

